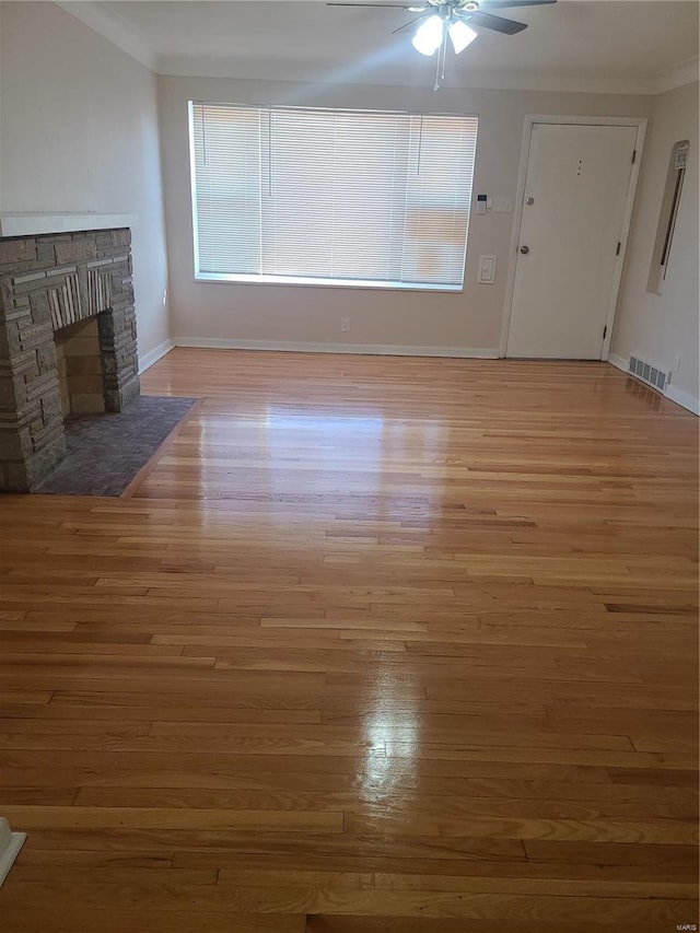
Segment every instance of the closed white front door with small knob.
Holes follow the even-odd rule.
[[[534,124],[509,357],[599,360],[637,127]]]

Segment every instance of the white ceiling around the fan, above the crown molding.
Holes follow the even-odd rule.
[[[329,8],[322,0],[66,5],[100,7],[103,21],[138,40],[161,73],[390,84],[425,84],[434,74],[434,60],[410,45],[412,30],[392,35],[415,15],[402,10]],[[499,11],[529,28],[515,36],[480,31],[458,58],[451,56],[447,83],[651,88],[697,58],[699,9],[697,0],[560,0]]]

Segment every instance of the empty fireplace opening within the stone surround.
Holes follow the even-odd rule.
[[[105,382],[97,318],[61,327],[55,331],[54,342],[63,418],[104,413]]]

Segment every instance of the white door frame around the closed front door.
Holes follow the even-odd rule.
[[[517,174],[517,193],[515,195],[515,212],[513,215],[513,232],[511,236],[511,248],[508,264],[508,277],[505,280],[505,296],[503,302],[503,320],[501,326],[501,340],[499,343],[499,357],[504,358],[508,351],[508,338],[511,329],[511,316],[513,314],[513,298],[515,295],[515,268],[517,265],[517,248],[521,241],[521,226],[523,223],[523,202],[525,200],[525,184],[527,180],[527,168],[529,163],[529,148],[535,124],[553,124],[553,125],[573,125],[573,126],[622,126],[637,127],[637,140],[634,149],[637,158],[632,165],[630,174],[630,184],[627,190],[627,200],[625,202],[625,218],[622,221],[622,232],[620,243],[620,255],[617,257],[615,265],[615,276],[612,279],[612,290],[610,292],[610,303],[606,317],[606,335],[603,341],[602,360],[608,359],[610,351],[610,340],[612,338],[612,325],[615,324],[615,314],[620,294],[620,283],[622,281],[622,269],[625,268],[625,255],[627,253],[627,244],[630,235],[632,223],[632,210],[634,208],[634,195],[637,194],[637,184],[639,182],[639,173],[642,164],[642,151],[644,148],[644,137],[646,135],[646,117],[568,117],[552,116],[540,114],[527,114],[525,117],[525,126],[523,130],[523,144],[521,148],[521,162]]]

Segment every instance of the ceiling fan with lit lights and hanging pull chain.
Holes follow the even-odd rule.
[[[435,91],[440,88],[440,75],[442,67],[442,79],[444,80],[445,56],[447,51],[447,36],[456,55],[477,37],[472,28],[477,26],[483,30],[492,30],[497,33],[512,36],[527,28],[527,23],[518,23],[515,20],[506,20],[504,16],[495,16],[491,10],[505,10],[514,7],[542,7],[556,3],[557,0],[423,0],[417,4],[410,3],[362,3],[352,0],[334,0],[327,2],[326,7],[366,7],[402,10],[405,13],[419,13],[408,23],[394,30],[400,33],[420,23],[412,38],[413,48],[421,55],[438,55],[438,78]],[[442,62],[442,66],[441,66]]]

